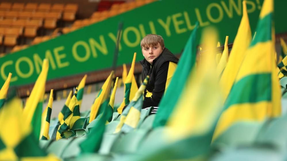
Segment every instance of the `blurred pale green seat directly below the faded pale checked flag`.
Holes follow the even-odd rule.
[[[136,129],[126,133],[114,143],[111,152],[118,154],[131,154],[136,152],[148,132],[148,129]]]

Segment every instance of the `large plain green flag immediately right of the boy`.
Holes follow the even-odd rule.
[[[184,86],[188,81],[190,72],[195,66],[196,61],[196,34],[198,24],[190,34],[190,37],[184,47],[182,56],[178,62],[174,76],[170,81],[169,87],[165,95],[159,103],[159,109],[153,121],[153,127],[164,126],[174,107],[180,99],[180,94],[184,90]]]

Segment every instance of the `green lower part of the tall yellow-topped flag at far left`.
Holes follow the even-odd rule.
[[[38,138],[38,139],[39,139],[40,130],[41,130],[42,107],[43,107],[43,102],[39,102],[34,111],[34,115],[31,121],[33,134],[35,138]]]

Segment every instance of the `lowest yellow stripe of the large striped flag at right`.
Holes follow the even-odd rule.
[[[217,122],[213,140],[238,121],[262,121],[268,116],[271,102],[236,104],[226,109]]]

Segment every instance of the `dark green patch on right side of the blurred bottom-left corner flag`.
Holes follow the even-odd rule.
[[[26,138],[24,138],[20,144],[14,148],[15,153],[19,158],[21,157],[36,157],[36,156],[47,156],[47,153],[42,150],[36,140],[39,140],[38,138],[34,138],[32,134],[28,135]]]

